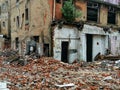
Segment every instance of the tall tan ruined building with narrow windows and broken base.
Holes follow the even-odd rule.
[[[50,21],[48,0],[11,0],[11,48],[49,56]]]

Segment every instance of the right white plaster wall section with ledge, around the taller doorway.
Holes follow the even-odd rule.
[[[83,31],[81,32],[81,40],[82,40],[82,55],[81,59],[86,61],[86,53],[87,53],[87,45],[86,45],[86,34],[91,34],[93,36],[92,43],[92,60],[94,57],[100,52],[101,54],[105,54],[105,50],[108,48],[108,33],[103,31],[103,28],[91,25],[84,25]],[[97,45],[98,43],[98,45]]]

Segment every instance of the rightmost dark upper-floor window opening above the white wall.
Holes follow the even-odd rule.
[[[116,10],[113,7],[108,8],[108,24],[116,24]]]

